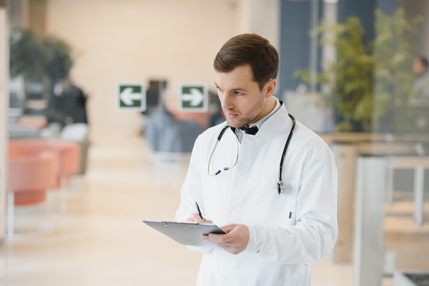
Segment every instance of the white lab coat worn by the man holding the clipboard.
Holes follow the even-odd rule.
[[[283,165],[285,194],[278,194],[280,158],[292,127],[282,105],[256,135],[227,129],[208,161],[225,123],[199,135],[182,186],[176,220],[199,203],[204,218],[219,226],[246,224],[247,248],[238,255],[215,245],[190,247],[204,252],[197,285],[310,285],[310,263],[323,259],[336,242],[337,175],[330,148],[300,122]],[[231,170],[224,167],[234,165]],[[289,213],[291,218],[289,218]]]

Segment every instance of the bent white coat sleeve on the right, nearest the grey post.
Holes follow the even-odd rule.
[[[247,251],[278,263],[312,263],[332,251],[338,235],[334,157],[328,146],[313,147],[306,156],[296,224],[248,225]]]

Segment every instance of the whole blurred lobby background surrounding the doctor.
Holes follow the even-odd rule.
[[[195,138],[223,122],[212,60],[242,33],[278,49],[275,96],[336,157],[339,239],[312,284],[429,285],[428,16],[428,0],[0,1],[0,285],[195,283],[201,255],[142,220],[173,220]]]

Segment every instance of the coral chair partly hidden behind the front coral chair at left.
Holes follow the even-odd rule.
[[[10,140],[9,154],[38,155],[50,151],[56,156],[56,182],[53,189],[59,189],[62,194],[62,211],[66,211],[66,191],[71,175],[79,170],[79,144],[65,140]]]

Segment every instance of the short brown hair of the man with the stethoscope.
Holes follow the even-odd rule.
[[[237,66],[249,64],[259,89],[278,73],[278,52],[266,38],[257,34],[241,34],[223,44],[213,66],[219,73],[228,73]]]

